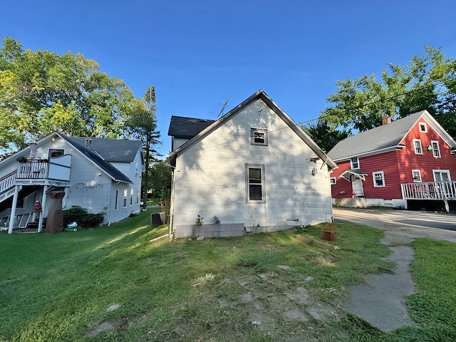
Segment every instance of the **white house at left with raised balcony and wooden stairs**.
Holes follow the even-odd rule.
[[[47,135],[0,162],[0,228],[11,233],[38,224],[41,232],[56,193],[62,209],[103,212],[104,224],[124,219],[140,212],[143,170],[139,141]]]

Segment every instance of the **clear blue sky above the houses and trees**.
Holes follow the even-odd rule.
[[[437,1],[2,0],[1,36],[80,52],[171,115],[215,119],[263,89],[296,122],[318,117],[336,81],[405,65],[423,47],[456,58],[456,3]]]

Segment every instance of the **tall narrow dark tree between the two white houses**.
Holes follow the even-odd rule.
[[[142,205],[147,208],[147,190],[150,189],[150,167],[152,162],[157,160],[159,155],[155,146],[161,144],[160,132],[157,130],[157,116],[155,115],[155,87],[149,86],[144,98],[137,100],[135,110],[130,115],[126,125],[130,130],[130,135],[142,141],[144,146],[145,172],[142,177]]]

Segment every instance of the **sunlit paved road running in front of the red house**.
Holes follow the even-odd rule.
[[[333,208],[336,222],[348,221],[394,233],[410,242],[417,237],[456,242],[456,215],[408,210]],[[390,236],[386,234],[385,237]],[[397,240],[395,242],[398,242]]]

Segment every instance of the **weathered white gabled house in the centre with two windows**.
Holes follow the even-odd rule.
[[[336,164],[263,90],[216,121],[172,117],[168,134],[170,234],[228,237],[331,221]]]

